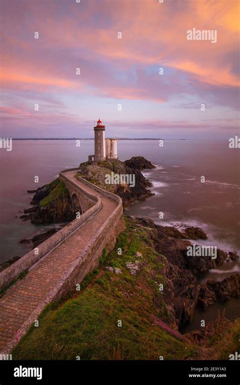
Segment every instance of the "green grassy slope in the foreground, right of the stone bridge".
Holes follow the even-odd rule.
[[[165,258],[149,245],[144,228],[134,228],[131,219],[126,224],[114,250],[108,255],[104,251],[98,270],[86,276],[81,290],[45,308],[38,317],[39,327],[32,325],[13,350],[15,360],[227,359],[237,351],[239,321],[234,327],[220,325],[202,345],[182,342],[152,325],[149,314],[168,318],[164,302],[160,309],[153,304],[153,298],[160,296],[155,282],[164,280]],[[143,254],[143,265],[133,277],[125,263],[137,259],[136,251]],[[121,268],[122,274],[105,271],[104,266]],[[122,327],[117,327],[118,320]]]

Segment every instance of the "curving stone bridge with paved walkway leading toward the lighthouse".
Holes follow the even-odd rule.
[[[59,178],[79,218],[0,273],[1,289],[27,271],[0,298],[1,354],[11,352],[49,302],[74,289],[97,267],[103,250],[112,250],[125,229],[121,198],[76,178],[77,170],[61,171]]]

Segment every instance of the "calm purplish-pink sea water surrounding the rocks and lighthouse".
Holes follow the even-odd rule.
[[[77,167],[93,152],[92,140],[82,140],[80,147],[74,140],[20,140],[13,141],[12,151],[0,150],[0,263],[29,251],[29,245],[20,244],[20,239],[56,227],[19,219],[20,211],[30,207],[32,195],[27,190],[49,183],[62,169]],[[126,214],[147,216],[155,223],[180,228],[184,224],[199,226],[209,236],[203,244],[239,252],[238,152],[229,149],[228,141],[165,140],[163,147],[157,140],[118,141],[119,159],[141,155],[157,166],[144,172],[153,182],[155,195],[128,207]],[[39,183],[34,183],[34,176],[38,176]],[[201,183],[202,176],[205,183]],[[159,219],[159,212],[164,213],[163,219]],[[221,281],[237,271],[239,262],[225,262],[203,279]],[[240,316],[239,302],[231,300],[227,306],[214,304],[205,319],[217,317],[224,307],[229,318]],[[197,311],[189,328],[197,327],[201,319],[203,313]]]

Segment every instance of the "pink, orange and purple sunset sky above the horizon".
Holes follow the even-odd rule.
[[[2,138],[90,138],[99,118],[107,137],[239,135],[238,0],[0,5]]]

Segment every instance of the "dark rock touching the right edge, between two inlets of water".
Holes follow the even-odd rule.
[[[240,274],[234,274],[223,281],[207,281],[207,287],[214,291],[218,301],[225,301],[240,294]]]

